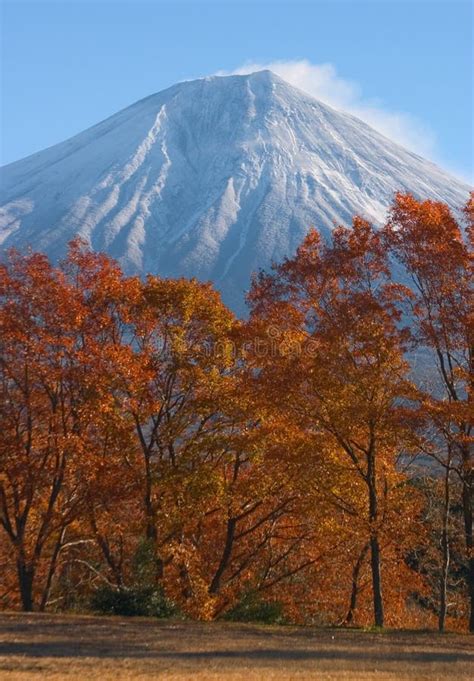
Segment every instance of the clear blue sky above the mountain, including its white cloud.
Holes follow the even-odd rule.
[[[2,164],[178,80],[270,66],[473,177],[470,0],[1,5]]]

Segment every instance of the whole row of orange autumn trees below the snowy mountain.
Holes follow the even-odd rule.
[[[473,236],[474,195],[399,194],[246,320],[78,240],[9,253],[0,607],[473,631]]]

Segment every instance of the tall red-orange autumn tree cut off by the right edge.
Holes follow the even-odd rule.
[[[465,210],[468,235],[472,206],[471,198]],[[441,424],[436,432],[445,443],[445,465],[461,482],[469,629],[474,631],[472,243],[470,248],[446,204],[417,201],[409,194],[396,196],[384,236],[410,285],[406,300],[418,354],[428,351],[430,380],[437,378],[434,389],[425,390],[426,405]]]

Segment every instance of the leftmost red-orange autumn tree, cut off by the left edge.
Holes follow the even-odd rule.
[[[78,471],[98,401],[86,406],[77,380],[81,316],[67,278],[44,256],[12,253],[1,266],[0,522],[25,610],[35,598],[44,606],[84,501]]]

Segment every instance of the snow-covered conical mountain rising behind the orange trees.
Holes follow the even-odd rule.
[[[128,273],[251,273],[311,225],[382,223],[397,190],[458,209],[469,187],[270,71],[179,83],[0,169],[0,248],[53,259],[79,234]]]

